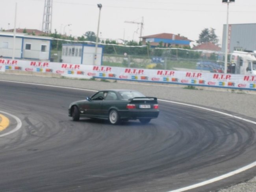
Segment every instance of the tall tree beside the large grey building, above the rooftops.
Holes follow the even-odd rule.
[[[215,34],[215,29],[205,28],[202,30],[202,32],[199,34],[199,39],[196,41],[198,44],[202,44],[205,42],[212,42],[213,44],[218,44],[219,39],[217,38],[217,35]]]

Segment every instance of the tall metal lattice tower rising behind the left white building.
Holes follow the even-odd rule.
[[[45,0],[42,31],[45,33],[52,31],[52,0]]]

